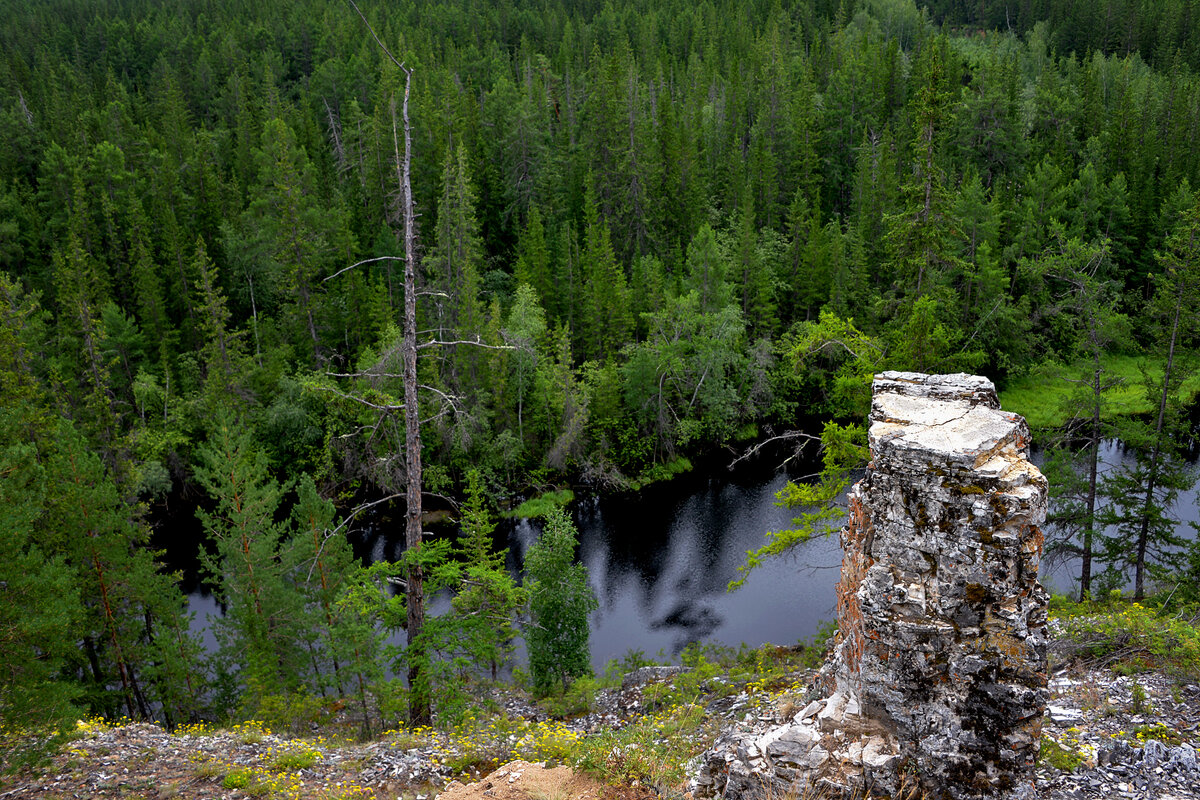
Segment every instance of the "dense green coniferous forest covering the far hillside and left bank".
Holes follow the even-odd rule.
[[[1045,434],[1052,531],[1081,590],[1190,575],[1195,600],[1200,548],[1164,511],[1193,480],[1193,0],[0,0],[0,19],[6,732],[316,696],[368,733],[406,706],[452,718],[456,676],[496,674],[530,595],[584,625],[594,603],[563,515],[547,577],[508,578],[499,504],[636,491],[829,420],[827,452],[853,452],[842,423],[883,368],[1003,389],[1055,365],[1074,389]],[[354,509],[407,479],[406,73],[382,46],[412,71],[421,486],[467,536],[366,569]],[[1148,413],[1112,408],[1115,359],[1147,366]],[[1105,477],[1112,437],[1134,457]],[[173,509],[209,540],[215,654],[150,546]],[[414,599],[388,587],[416,573],[458,594],[397,656]],[[577,639],[538,645],[535,684],[588,669]]]

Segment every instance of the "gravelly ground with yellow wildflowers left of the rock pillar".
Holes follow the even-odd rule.
[[[476,766],[481,759],[503,763],[522,747],[536,751],[539,738],[570,741],[626,724],[641,712],[642,682],[599,693],[588,714],[569,722],[548,720],[523,693],[497,693],[493,699],[503,709],[498,717],[524,724],[508,735],[488,730],[493,741],[486,745],[467,741],[469,734],[438,732],[390,732],[360,744],[284,736],[254,723],[232,730],[194,727],[168,733],[148,723],[80,722],[48,768],[36,775],[0,775],[0,800],[431,800],[439,795],[448,800],[631,800],[646,793],[605,787],[569,768],[520,759],[500,766],[486,788],[468,789],[461,781],[481,777]],[[468,751],[470,757],[463,758]],[[474,763],[463,766],[464,762]]]

